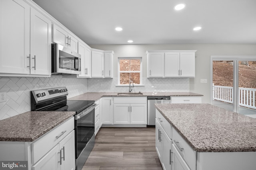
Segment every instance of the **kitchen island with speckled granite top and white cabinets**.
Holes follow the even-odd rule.
[[[255,169],[256,119],[210,104],[156,104],[156,109],[156,147],[165,133],[172,145],[172,170],[180,162],[192,170]]]

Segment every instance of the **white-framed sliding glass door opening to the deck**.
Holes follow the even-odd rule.
[[[256,117],[256,56],[211,56],[211,104]]]

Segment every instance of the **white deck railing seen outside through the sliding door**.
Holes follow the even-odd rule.
[[[256,109],[254,88],[239,88],[239,106]],[[213,86],[213,99],[233,103],[233,87]]]

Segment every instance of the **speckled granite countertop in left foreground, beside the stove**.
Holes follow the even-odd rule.
[[[28,111],[9,117],[0,121],[0,141],[33,142],[75,113],[74,111]]]

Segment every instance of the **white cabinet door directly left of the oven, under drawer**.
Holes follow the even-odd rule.
[[[62,152],[62,161],[60,170],[75,170],[75,132],[70,132],[62,141],[60,141],[60,152]]]

